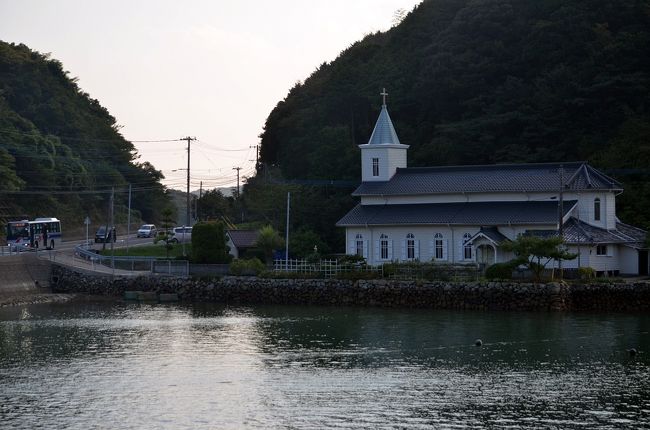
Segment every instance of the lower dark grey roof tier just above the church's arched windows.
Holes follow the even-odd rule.
[[[563,204],[566,214],[576,201]],[[554,201],[357,205],[336,225],[557,225],[557,210]]]

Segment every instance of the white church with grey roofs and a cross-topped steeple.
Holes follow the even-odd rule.
[[[646,232],[616,217],[620,183],[586,162],[407,167],[384,104],[361,149],[360,203],[336,224],[346,253],[390,261],[480,264],[509,261],[501,244],[561,231],[575,260],[599,275],[647,275]],[[561,224],[560,224],[561,223]],[[551,263],[553,264],[553,263]],[[551,266],[549,264],[549,266]]]

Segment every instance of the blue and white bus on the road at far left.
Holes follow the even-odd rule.
[[[36,218],[33,221],[7,223],[7,245],[14,251],[54,249],[61,244],[61,221],[57,218]]]

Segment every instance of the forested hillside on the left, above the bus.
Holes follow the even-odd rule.
[[[155,221],[168,204],[160,179],[60,62],[0,42],[0,218],[58,216],[68,230],[86,215],[106,222],[115,188],[120,222],[131,184],[135,218]]]

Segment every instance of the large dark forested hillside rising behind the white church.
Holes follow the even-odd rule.
[[[619,215],[650,227],[647,0],[424,1],[296,84],[262,162],[358,180],[383,87],[410,166],[588,160],[624,183]]]

